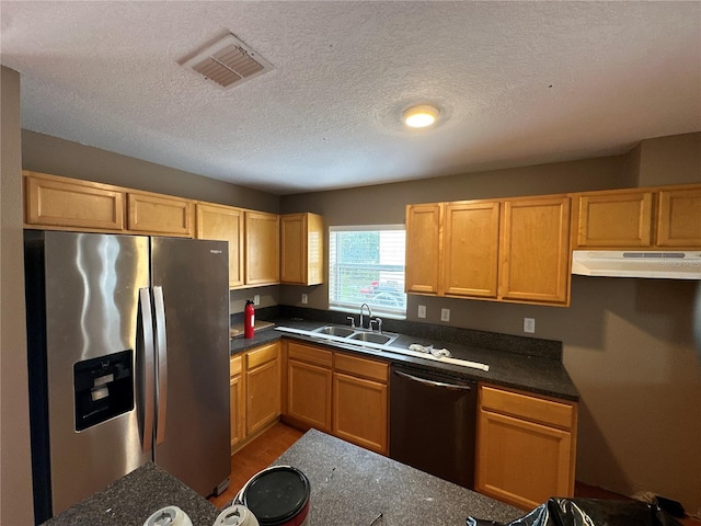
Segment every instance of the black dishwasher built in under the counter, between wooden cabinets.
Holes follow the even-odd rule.
[[[390,458],[474,487],[476,382],[392,365]]]

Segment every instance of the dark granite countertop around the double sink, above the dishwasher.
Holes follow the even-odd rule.
[[[277,327],[301,330],[313,330],[329,323],[318,320],[299,320],[289,318],[279,318],[269,321],[274,321]],[[285,333],[273,328],[256,332],[252,339],[232,339],[230,350],[231,354],[235,355],[258,345],[278,340],[283,336],[292,338],[319,345],[326,345],[349,354],[371,355],[377,358],[386,359],[390,363],[404,364],[415,369],[430,371],[439,370],[449,377],[485,381],[496,386],[522,389],[536,395],[544,395],[564,400],[579,400],[579,393],[570,378],[570,375],[561,361],[561,355],[558,352],[558,346],[555,344],[560,344],[560,342],[502,334],[495,334],[495,338],[489,338],[491,333],[479,333],[479,336],[481,338],[481,340],[478,341],[479,344],[466,344],[459,343],[461,342],[460,335],[457,338],[451,336],[458,340],[458,342],[438,340],[436,336],[445,338],[441,336],[441,334],[443,333],[427,332],[426,334],[421,335],[406,335],[400,333],[400,338],[392,342],[389,348],[394,346],[406,348],[412,343],[418,343],[421,345],[433,344],[436,348],[448,348],[456,358],[486,364],[490,366],[490,370],[483,371],[480,369],[462,367],[460,365],[406,356],[389,351],[344,345],[335,341],[314,339],[301,334]],[[487,334],[487,336],[484,338],[483,334]],[[471,334],[468,333],[468,336],[471,336]],[[466,338],[466,340],[470,339],[471,338]],[[474,339],[472,338],[471,340]],[[507,347],[509,351],[485,346],[492,344],[495,347]],[[512,348],[513,351],[510,351]]]

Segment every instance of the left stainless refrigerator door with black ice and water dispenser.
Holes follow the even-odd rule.
[[[47,485],[38,492],[35,488],[35,494],[45,501],[41,513],[50,516],[150,459],[151,451],[141,448],[134,405],[106,420],[94,418],[115,396],[111,384],[129,368],[115,361],[111,369],[108,359],[94,358],[137,354],[139,288],[149,286],[148,239],[27,231],[25,255],[32,283],[27,334],[33,469],[35,482]],[[85,367],[93,367],[93,373]],[[94,403],[92,414],[77,411],[79,370],[88,390],[80,403],[83,409]],[[85,387],[85,381],[93,385]],[[39,400],[33,399],[35,388],[45,390]],[[88,416],[99,423],[76,421]]]

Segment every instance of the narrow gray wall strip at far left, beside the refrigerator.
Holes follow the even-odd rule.
[[[0,524],[34,524],[24,316],[20,75],[0,67]]]

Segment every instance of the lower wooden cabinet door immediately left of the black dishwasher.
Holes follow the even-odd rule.
[[[333,434],[387,455],[387,385],[342,373],[333,374]]]

